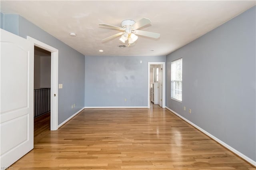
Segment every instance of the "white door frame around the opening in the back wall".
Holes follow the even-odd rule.
[[[162,108],[165,108],[165,62],[148,62],[148,108],[150,108],[150,65],[162,65]]]

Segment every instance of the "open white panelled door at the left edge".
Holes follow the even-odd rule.
[[[0,166],[34,147],[34,44],[1,29]]]

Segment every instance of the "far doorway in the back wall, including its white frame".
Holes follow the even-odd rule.
[[[165,62],[148,62],[148,108],[165,108]]]

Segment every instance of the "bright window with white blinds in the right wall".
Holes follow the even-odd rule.
[[[182,101],[182,58],[171,63],[171,98]]]

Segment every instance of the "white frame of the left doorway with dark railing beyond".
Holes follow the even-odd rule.
[[[40,42],[30,36],[27,40],[34,43],[34,46],[51,52],[51,123],[50,130],[58,130],[58,49]],[[34,55],[33,55],[34,59]],[[34,67],[34,63],[33,63]],[[34,82],[33,82],[34,83]]]

